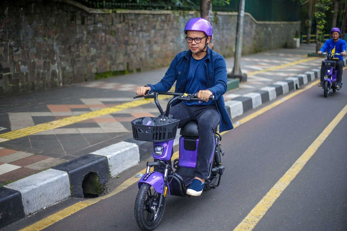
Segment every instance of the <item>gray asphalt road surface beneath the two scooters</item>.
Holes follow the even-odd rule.
[[[220,186],[199,197],[169,196],[155,230],[235,229],[346,106],[346,92],[347,86],[324,98],[321,88],[312,87],[224,134],[226,170]],[[347,230],[346,131],[347,115],[254,230]],[[44,230],[139,230],[134,219],[137,191],[133,184]],[[70,199],[51,212],[76,201]],[[4,230],[24,228],[47,215],[39,212]]]

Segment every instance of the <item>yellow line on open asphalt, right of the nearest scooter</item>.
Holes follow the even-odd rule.
[[[261,201],[252,209],[251,212],[239,223],[234,231],[253,230],[255,225],[262,219],[266,211],[272,206],[276,199],[286,189],[290,182],[296,175],[303,169],[308,160],[318,150],[322,143],[327,139],[332,130],[341,121],[347,113],[347,105],[339,112],[339,114],[330,122],[324,131],[317,137],[317,139],[306,149],[306,151],[295,161],[289,170],[283,175],[277,183],[270,189],[268,193],[261,199]]]

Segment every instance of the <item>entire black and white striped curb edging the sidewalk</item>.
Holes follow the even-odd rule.
[[[313,69],[226,101],[229,116],[235,118],[242,115],[290,90],[299,89],[319,76],[320,69]],[[83,184],[86,184],[87,175],[90,180],[98,177],[99,184],[104,186],[110,177],[137,165],[143,159],[141,155],[150,152],[152,148],[149,142],[127,141],[0,187],[0,228],[69,197],[83,197],[86,193]],[[178,136],[174,142],[176,144]]]

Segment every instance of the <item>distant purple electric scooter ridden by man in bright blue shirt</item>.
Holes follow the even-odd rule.
[[[342,87],[342,83],[340,88],[336,88],[336,76],[337,76],[337,70],[336,70],[336,61],[335,60],[329,60],[331,57],[331,52],[324,52],[322,55],[327,55],[328,60],[322,61],[322,66],[324,66],[325,69],[325,75],[324,75],[324,82],[323,82],[323,89],[324,89],[324,97],[328,97],[330,89],[332,89],[333,92],[336,92],[336,90],[340,90]],[[335,53],[335,55],[342,55],[340,53]]]

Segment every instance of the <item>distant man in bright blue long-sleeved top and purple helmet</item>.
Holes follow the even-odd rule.
[[[323,47],[320,51],[317,52],[317,54],[322,54],[323,52],[327,51],[331,52],[331,56],[329,59],[336,60],[336,70],[337,70],[337,77],[336,77],[336,88],[341,87],[342,82],[342,67],[344,66],[344,58],[342,55],[346,55],[346,41],[339,38],[340,37],[340,29],[337,27],[334,27],[331,29],[331,39],[328,39],[325,41]],[[342,55],[334,55],[335,53],[341,53]],[[321,82],[319,83],[319,87],[323,86],[324,82],[324,75],[325,75],[325,68],[322,65],[321,68]]]

